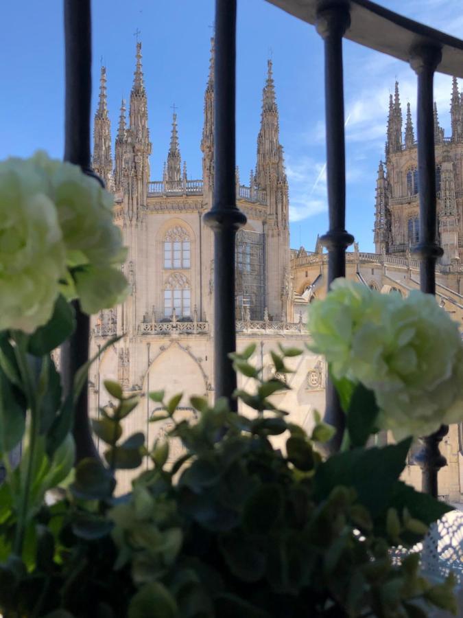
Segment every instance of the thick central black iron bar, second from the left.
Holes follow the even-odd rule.
[[[215,398],[231,398],[237,385],[230,352],[236,349],[235,236],[246,223],[236,205],[235,65],[236,0],[215,0],[214,187],[204,223],[214,231]]]

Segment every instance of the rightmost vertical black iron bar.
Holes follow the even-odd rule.
[[[418,196],[420,205],[420,242],[414,253],[420,259],[420,289],[436,294],[436,260],[444,253],[436,242],[436,159],[434,152],[433,79],[442,54],[440,49],[420,45],[412,49],[410,65],[418,76]],[[422,448],[415,461],[422,470],[423,492],[438,496],[438,472],[447,460],[439,443],[449,428],[442,425],[429,436],[420,438]]]

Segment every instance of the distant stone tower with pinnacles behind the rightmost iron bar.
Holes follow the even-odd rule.
[[[444,255],[438,268],[450,269],[455,276],[463,258],[463,103],[458,82],[453,78],[450,102],[450,138],[444,136],[434,103],[436,146],[436,198],[438,243]],[[379,164],[375,207],[375,247],[377,253],[407,256],[419,241],[418,154],[412,113],[407,104],[405,135],[402,140],[402,112],[399,84],[390,95],[385,166]]]

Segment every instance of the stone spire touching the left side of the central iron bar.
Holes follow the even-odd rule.
[[[214,38],[211,38],[211,59],[209,60],[209,78],[204,92],[204,125],[202,127],[202,181],[204,198],[211,205],[214,183]]]

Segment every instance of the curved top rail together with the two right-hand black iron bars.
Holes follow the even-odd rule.
[[[433,79],[436,70],[463,76],[463,41],[416,23],[369,0],[268,0],[294,16],[316,25],[324,38],[327,116],[327,185],[329,231],[322,238],[329,250],[329,284],[345,275],[344,253],[353,241],[344,230],[345,165],[342,80],[342,36],[383,54],[409,62],[418,76],[418,176],[420,240],[414,253],[420,259],[420,288],[436,291],[436,260],[442,249],[436,242],[436,163],[434,157]],[[339,448],[344,414],[333,389],[327,385],[325,419],[337,433],[331,450]],[[423,490],[438,494],[438,471],[447,462],[439,443],[448,431],[423,437],[416,456],[423,470]]]

